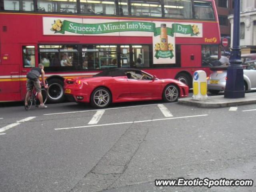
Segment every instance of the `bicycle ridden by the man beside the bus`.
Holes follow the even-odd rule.
[[[47,85],[47,82],[45,84]],[[42,96],[43,96],[43,102],[45,104],[46,101],[47,101],[47,98],[48,98],[47,90],[44,88],[44,85],[41,81],[40,81],[40,86],[41,86],[41,93],[42,93]],[[26,95],[28,95],[28,97],[27,97],[28,105],[26,105]],[[30,90],[27,90],[26,95],[25,95],[25,99],[24,99],[25,109],[27,111],[30,110],[32,105],[35,105],[36,107],[38,107],[38,103],[40,103],[40,102],[39,102],[38,96],[37,96],[38,92],[36,91],[34,86]]]

